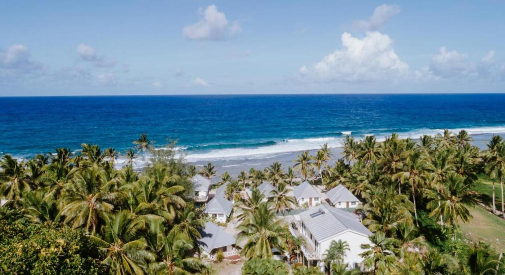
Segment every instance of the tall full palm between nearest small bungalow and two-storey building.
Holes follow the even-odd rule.
[[[241,222],[237,230],[239,231],[237,243],[246,240],[241,252],[246,259],[271,259],[272,249],[286,250],[283,236],[289,233],[275,215],[275,209],[270,208],[268,203],[261,203],[257,213],[252,215],[250,220],[245,219]]]

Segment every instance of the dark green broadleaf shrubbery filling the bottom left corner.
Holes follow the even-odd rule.
[[[1,274],[100,274],[94,249],[82,231],[56,223],[30,224],[0,207]],[[4,226],[5,225],[5,226]]]

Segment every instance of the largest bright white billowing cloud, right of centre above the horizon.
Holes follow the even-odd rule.
[[[396,55],[386,34],[367,32],[360,39],[344,32],[341,40],[342,49],[301,67],[302,78],[315,82],[395,81],[409,73],[409,65]]]

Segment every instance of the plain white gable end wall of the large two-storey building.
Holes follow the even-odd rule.
[[[343,234],[333,237],[332,239],[321,242],[321,256],[324,255],[326,250],[330,247],[331,241],[333,240],[342,240],[346,241],[347,244],[349,244],[349,251],[347,251],[347,254],[345,255],[344,262],[349,263],[349,265],[352,267],[354,267],[356,263],[361,263],[363,261],[363,258],[360,256],[360,253],[364,251],[361,249],[361,245],[371,244],[368,237],[347,231]]]

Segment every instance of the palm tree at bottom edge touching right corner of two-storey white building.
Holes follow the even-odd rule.
[[[360,254],[364,258],[363,264],[374,275],[389,275],[396,266],[397,258],[395,239],[387,238],[383,232],[376,232],[370,236],[371,244],[362,244],[365,251]]]

